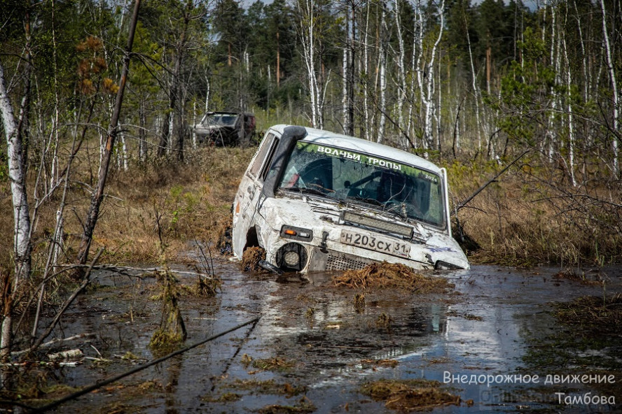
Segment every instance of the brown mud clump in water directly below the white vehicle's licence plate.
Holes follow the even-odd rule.
[[[453,287],[444,278],[423,276],[403,264],[372,263],[361,270],[348,270],[333,278],[336,286],[354,289],[397,288],[417,293],[443,293]]]

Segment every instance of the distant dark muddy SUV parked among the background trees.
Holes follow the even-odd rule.
[[[255,132],[255,115],[237,112],[208,112],[193,131],[200,143],[219,146],[249,143]]]

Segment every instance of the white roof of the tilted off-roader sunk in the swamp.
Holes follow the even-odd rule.
[[[270,127],[270,129],[273,129],[279,132],[279,134],[282,134],[286,127],[291,126],[292,125],[278,124],[273,125],[272,127]],[[356,138],[354,136],[338,134],[331,131],[324,131],[324,129],[315,129],[310,127],[303,128],[307,130],[307,136],[305,136],[305,138],[303,138],[301,141],[328,146],[337,146],[345,150],[354,150],[369,155],[377,155],[378,157],[382,158],[394,159],[395,161],[399,161],[402,164],[417,166],[434,173],[440,173],[441,171],[441,169],[433,162],[429,162],[427,159],[423,159],[418,155],[411,154],[410,152],[406,152],[404,150],[399,150],[398,148],[389,147],[387,145],[375,143],[373,141],[367,141],[361,138]]]

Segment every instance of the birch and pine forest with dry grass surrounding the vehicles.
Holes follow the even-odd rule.
[[[15,307],[94,248],[153,263],[219,238],[254,145],[198,145],[206,110],[445,166],[474,262],[618,262],[621,6],[1,0],[2,353]]]

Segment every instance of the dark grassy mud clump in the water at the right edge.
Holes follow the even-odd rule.
[[[609,336],[622,331],[622,294],[611,297],[586,296],[555,304],[555,317],[564,324],[579,327],[590,336]]]

